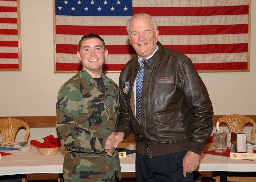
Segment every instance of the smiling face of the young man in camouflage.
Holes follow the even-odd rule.
[[[108,51],[104,50],[102,41],[98,38],[84,40],[77,56],[82,61],[83,68],[93,77],[101,77],[102,65]]]

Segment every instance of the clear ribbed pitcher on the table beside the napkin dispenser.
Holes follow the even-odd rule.
[[[225,153],[227,150],[228,133],[226,131],[213,133],[213,150],[216,153]]]

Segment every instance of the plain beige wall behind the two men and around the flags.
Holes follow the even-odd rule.
[[[54,74],[53,2],[20,0],[22,71],[0,72],[0,117],[54,116],[57,92],[74,74]],[[215,115],[256,114],[256,1],[252,0],[250,72],[199,73]],[[118,83],[119,74],[107,74]],[[32,128],[31,138],[55,135]],[[42,136],[42,137],[41,137]]]

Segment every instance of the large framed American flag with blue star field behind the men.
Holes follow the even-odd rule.
[[[78,42],[99,34],[119,72],[136,52],[125,28],[134,14],[157,22],[158,41],[192,59],[198,72],[249,71],[250,0],[55,0],[55,72],[78,72]]]

